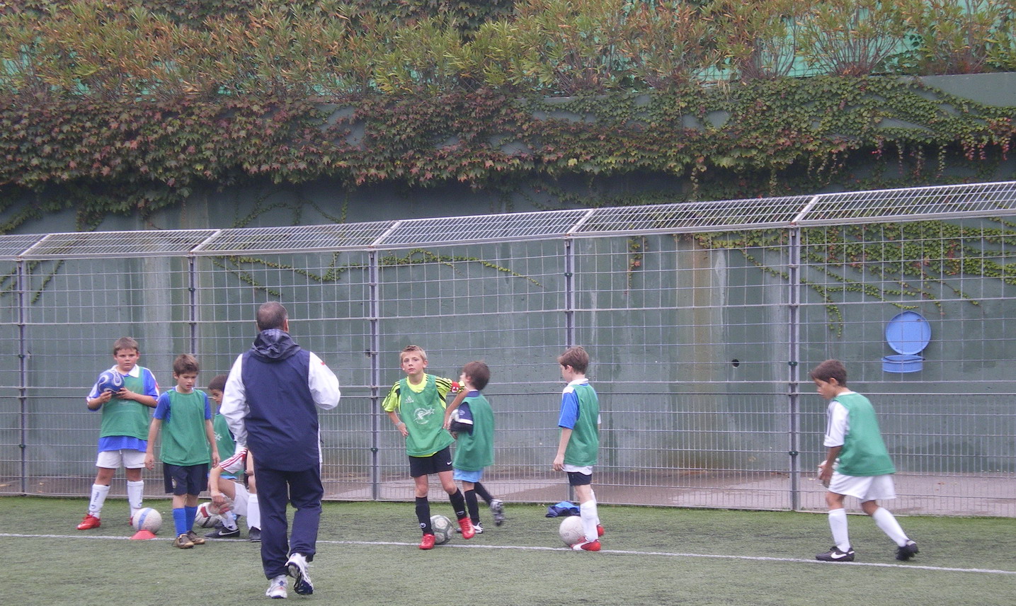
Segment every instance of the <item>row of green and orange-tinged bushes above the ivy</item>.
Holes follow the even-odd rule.
[[[1016,71],[1016,0],[23,4],[0,11],[0,92],[572,95]]]

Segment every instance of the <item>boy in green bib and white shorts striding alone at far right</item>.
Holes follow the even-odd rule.
[[[843,508],[843,498],[849,494],[861,500],[861,509],[896,543],[896,559],[910,559],[917,553],[917,544],[906,536],[892,513],[877,501],[896,498],[892,481],[896,468],[882,441],[872,403],[846,387],[846,367],[838,359],[827,359],[815,366],[810,376],[819,395],[829,400],[823,442],[828,451],[819,465],[818,479],[829,489],[826,492],[829,528],[836,542],[815,558],[853,561]]]

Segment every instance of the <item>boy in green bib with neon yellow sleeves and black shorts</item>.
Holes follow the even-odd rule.
[[[427,352],[408,345],[399,353],[399,365],[405,378],[392,386],[381,403],[395,428],[405,439],[412,476],[417,520],[424,533],[421,549],[433,549],[434,529],[431,526],[431,504],[427,497],[430,475],[437,474],[441,487],[448,493],[463,539],[473,536],[472,523],[465,511],[465,498],[452,478],[451,449],[454,442],[444,428],[445,398],[458,383],[428,375]]]

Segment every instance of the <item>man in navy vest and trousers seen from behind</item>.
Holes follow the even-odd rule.
[[[257,311],[258,335],[237,357],[226,382],[219,412],[237,445],[254,454],[261,507],[261,564],[270,580],[265,592],[284,598],[285,576],[298,594],[314,593],[307,562],[314,559],[321,520],[321,447],[318,411],[338,405],[338,379],[314,353],[290,337],[280,304]],[[287,501],[296,508],[287,537]]]

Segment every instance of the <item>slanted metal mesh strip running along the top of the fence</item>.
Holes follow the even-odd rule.
[[[1016,214],[1016,182],[232,229],[0,235],[0,260],[230,256],[789,228]]]

